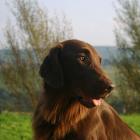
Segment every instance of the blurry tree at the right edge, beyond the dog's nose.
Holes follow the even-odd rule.
[[[140,111],[140,3],[118,0],[116,82],[127,112]]]

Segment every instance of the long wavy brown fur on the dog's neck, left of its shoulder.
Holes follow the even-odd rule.
[[[33,128],[35,134],[41,132],[42,129],[46,129],[47,133],[45,134],[45,137],[42,133],[42,136],[39,136],[41,138],[38,138],[38,135],[36,135],[35,140],[57,140],[63,138],[70,131],[71,127],[84,119],[89,112],[88,108],[81,105],[75,99],[71,99],[69,101],[68,96],[61,97],[61,95],[64,95],[65,93],[57,94],[59,95],[58,98],[50,97],[51,99],[53,98],[53,100],[46,96],[45,91],[40,97],[39,104],[33,118]],[[48,104],[47,100],[50,100],[51,103]],[[46,125],[45,128],[41,128],[41,126],[46,124],[44,122],[47,122],[48,126]],[[50,125],[54,127],[51,128],[49,127]]]

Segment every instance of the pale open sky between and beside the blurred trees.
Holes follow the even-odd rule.
[[[64,13],[72,23],[75,39],[95,46],[115,46],[116,13],[113,5],[116,0],[38,0],[38,2],[50,13]],[[5,0],[0,0],[0,30],[3,30],[9,17],[10,12]]]

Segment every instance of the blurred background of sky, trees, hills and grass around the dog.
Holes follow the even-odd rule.
[[[73,38],[100,53],[116,85],[107,102],[140,133],[139,0],[1,0],[0,20],[0,139],[31,139],[40,64]]]

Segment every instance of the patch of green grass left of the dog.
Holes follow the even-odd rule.
[[[31,115],[11,112],[0,115],[0,140],[31,139]]]

